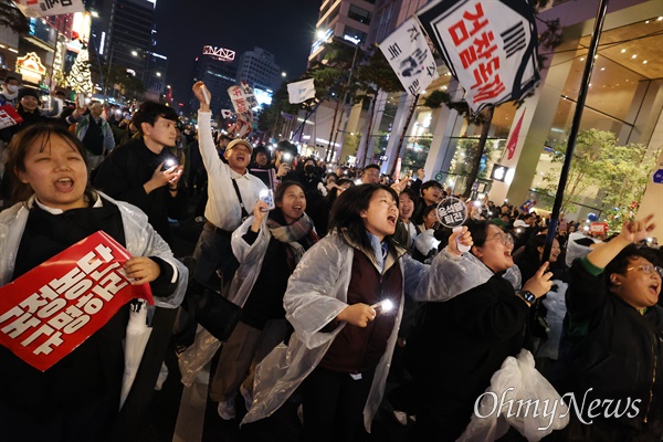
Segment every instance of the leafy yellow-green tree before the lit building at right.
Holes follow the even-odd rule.
[[[566,149],[566,143],[557,145],[552,162],[561,164]],[[575,211],[575,204],[591,187],[600,189],[608,217],[622,213],[624,207],[638,204],[657,158],[657,154],[648,154],[646,150],[646,146],[640,144],[617,146],[617,135],[611,131],[588,129],[578,134],[561,213]],[[558,175],[559,169],[555,168],[544,176],[546,191],[557,191]]]

